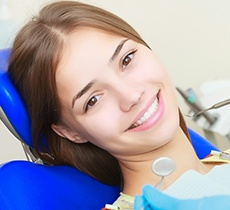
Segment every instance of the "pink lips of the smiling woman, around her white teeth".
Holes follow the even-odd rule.
[[[145,121],[143,124],[141,124],[135,128],[131,128],[131,129],[129,128],[129,129],[127,129],[127,131],[144,131],[144,130],[151,128],[152,126],[154,126],[159,121],[159,119],[161,118],[161,116],[164,113],[164,103],[163,103],[163,100],[162,100],[162,97],[160,94],[160,90],[148,102],[146,107],[137,115],[137,117],[132,122],[132,124],[134,124],[138,119],[140,119],[145,114],[145,112],[149,109],[149,107],[151,106],[151,104],[154,102],[154,100],[156,98],[158,98],[158,107],[157,107],[157,110],[155,111],[155,113],[147,121]]]

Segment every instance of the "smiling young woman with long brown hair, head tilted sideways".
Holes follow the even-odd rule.
[[[75,1],[47,5],[18,33],[8,71],[39,156],[120,185],[114,205],[121,209],[132,208],[143,185],[159,182],[151,170],[159,157],[176,163],[163,190],[188,170],[213,167],[197,158],[156,55],[107,11]]]

